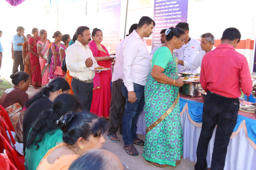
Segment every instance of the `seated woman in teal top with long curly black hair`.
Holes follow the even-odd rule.
[[[26,145],[25,166],[36,170],[46,152],[63,142],[62,130],[55,125],[56,120],[68,112],[82,110],[80,100],[71,94],[60,94],[53,102],[51,110],[43,111],[32,126]]]

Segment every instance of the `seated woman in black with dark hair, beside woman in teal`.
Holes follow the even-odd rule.
[[[28,132],[38,118],[38,115],[44,110],[50,110],[54,99],[62,93],[68,93],[69,89],[70,87],[66,80],[63,78],[56,78],[25,103],[27,110],[24,114],[23,121],[21,122],[21,124],[23,124],[22,133],[24,154]]]

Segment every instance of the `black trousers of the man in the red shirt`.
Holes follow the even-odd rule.
[[[196,150],[195,170],[206,170],[206,155],[210,139],[217,124],[211,170],[223,170],[230,136],[236,126],[239,110],[238,98],[226,98],[207,93],[203,107],[202,131]]]

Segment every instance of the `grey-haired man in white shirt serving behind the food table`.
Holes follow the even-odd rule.
[[[202,51],[200,51],[197,55],[196,58],[194,59],[194,61],[192,62],[187,62],[187,61],[183,61],[183,60],[179,60],[178,64],[181,64],[181,70],[198,70],[198,68],[201,66],[202,64],[202,60],[204,55],[209,52],[214,50],[216,47],[214,47],[214,36],[211,33],[205,33],[202,34],[201,36],[201,49]],[[200,73],[196,72],[196,73]]]

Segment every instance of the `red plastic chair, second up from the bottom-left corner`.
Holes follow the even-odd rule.
[[[10,159],[10,161],[18,168],[18,170],[25,170],[24,156],[18,157],[16,151],[14,150],[14,148],[12,148],[12,146],[10,145],[8,140],[6,140],[6,138],[1,133],[0,133],[0,136],[4,143],[6,157],[8,157]]]

